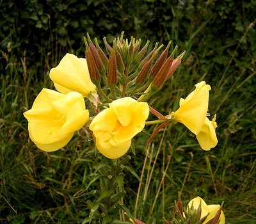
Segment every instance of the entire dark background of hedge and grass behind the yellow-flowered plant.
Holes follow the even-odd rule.
[[[179,52],[187,51],[151,106],[163,114],[176,109],[179,97],[204,79],[212,86],[209,113],[218,114],[219,144],[210,152],[182,125],[154,139],[143,176],[150,184],[142,186],[136,216],[147,223],[171,220],[182,191],[184,204],[198,195],[207,204],[225,201],[227,223],[255,223],[255,1],[2,0],[0,8],[1,223],[82,223],[88,215],[84,189],[100,160],[88,157],[90,133],[82,129],[65,150],[47,154],[29,140],[22,113],[42,87],[53,88],[49,69],[65,53],[84,56],[86,33],[111,42],[121,31],[152,44],[173,40]],[[147,138],[139,135],[131,162],[139,175]],[[129,173],[125,179],[124,200],[133,211],[139,182]]]

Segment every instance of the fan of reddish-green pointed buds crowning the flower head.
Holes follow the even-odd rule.
[[[141,39],[131,37],[129,41],[124,38],[124,32],[113,40],[112,47],[106,38],[103,40],[107,54],[100,48],[97,38],[93,44],[88,34],[84,37],[90,77],[107,101],[127,96],[139,98],[141,101],[147,100],[161,90],[185,53],[174,58],[176,46],[168,56],[172,42],[168,43],[160,55],[158,54],[163,45],[159,46],[158,43],[148,52],[149,40],[141,46]],[[102,88],[102,84],[106,88]],[[111,96],[107,97],[109,93]]]

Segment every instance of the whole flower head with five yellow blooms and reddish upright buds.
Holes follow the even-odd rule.
[[[132,138],[145,124],[151,124],[146,122],[150,109],[145,101],[172,76],[184,52],[174,58],[175,47],[168,56],[169,42],[158,57],[163,45],[156,44],[146,54],[149,41],[140,49],[140,39],[131,38],[128,42],[123,35],[114,39],[113,47],[104,38],[108,54],[99,47],[97,39],[93,44],[88,35],[84,38],[86,59],[66,54],[51,69],[50,78],[58,92],[43,89],[32,108],[24,113],[29,136],[38,148],[58,150],[85,126],[92,131],[98,150],[115,159],[127,152]],[[216,115],[212,121],[206,116],[211,87],[204,81],[195,86],[186,99],[180,99],[177,111],[163,116],[164,119],[160,117],[155,124],[180,122],[196,135],[204,150],[210,150],[218,143]],[[90,117],[84,98],[92,103],[94,115]]]

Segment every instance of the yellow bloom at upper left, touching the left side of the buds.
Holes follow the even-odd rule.
[[[85,58],[66,54],[56,68],[50,71],[50,78],[60,93],[79,92],[83,97],[96,92],[92,83]]]

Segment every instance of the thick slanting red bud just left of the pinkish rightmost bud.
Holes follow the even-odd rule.
[[[170,56],[163,64],[159,72],[157,72],[156,77],[154,77],[151,87],[154,91],[159,91],[163,87],[163,84],[165,83],[165,76],[166,73],[170,70],[172,66],[173,58]]]

